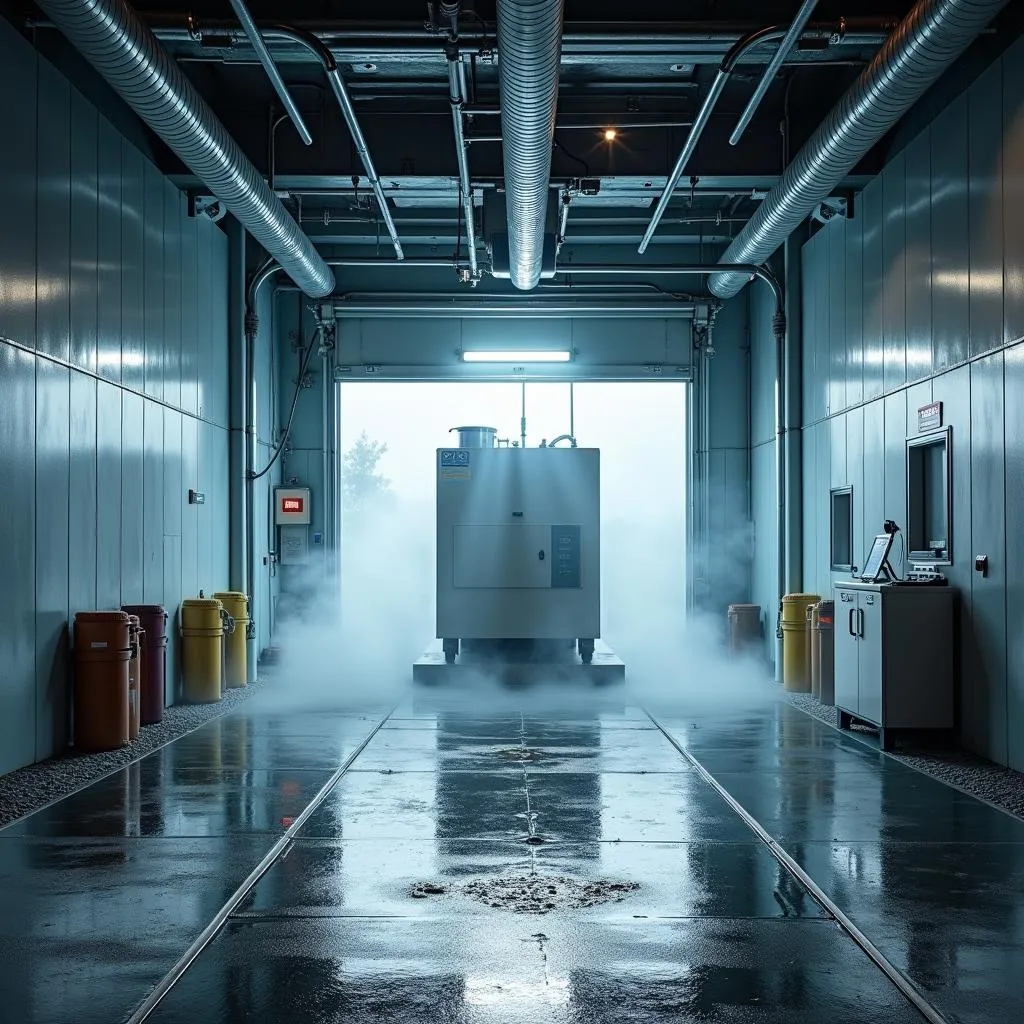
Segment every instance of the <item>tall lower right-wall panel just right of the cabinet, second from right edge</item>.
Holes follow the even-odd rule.
[[[962,729],[973,750],[1004,764],[1008,740],[1005,419],[1002,353],[996,352],[971,365],[969,550],[988,555],[988,570],[984,575],[971,573],[976,659],[971,675],[962,681]]]

